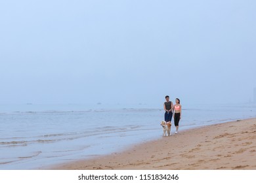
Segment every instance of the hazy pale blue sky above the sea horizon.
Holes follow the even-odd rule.
[[[256,1],[0,1],[0,103],[247,103]]]

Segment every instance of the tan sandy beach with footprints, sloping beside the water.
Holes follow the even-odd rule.
[[[170,137],[137,144],[123,152],[51,169],[255,170],[256,118],[181,131]]]

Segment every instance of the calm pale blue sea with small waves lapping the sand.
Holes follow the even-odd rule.
[[[179,133],[245,118],[256,118],[256,104],[182,105]],[[0,105],[0,169],[48,169],[114,154],[163,138],[161,120],[162,104]]]

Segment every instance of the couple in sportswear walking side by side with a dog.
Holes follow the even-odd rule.
[[[180,99],[175,99],[175,105],[173,102],[169,101],[170,97],[168,95],[165,96],[166,102],[163,104],[163,109],[165,110],[165,122],[171,124],[171,118],[174,118],[174,124],[176,127],[175,133],[178,133],[179,129],[179,121],[181,120],[181,104]],[[174,114],[173,114],[174,110]]]

